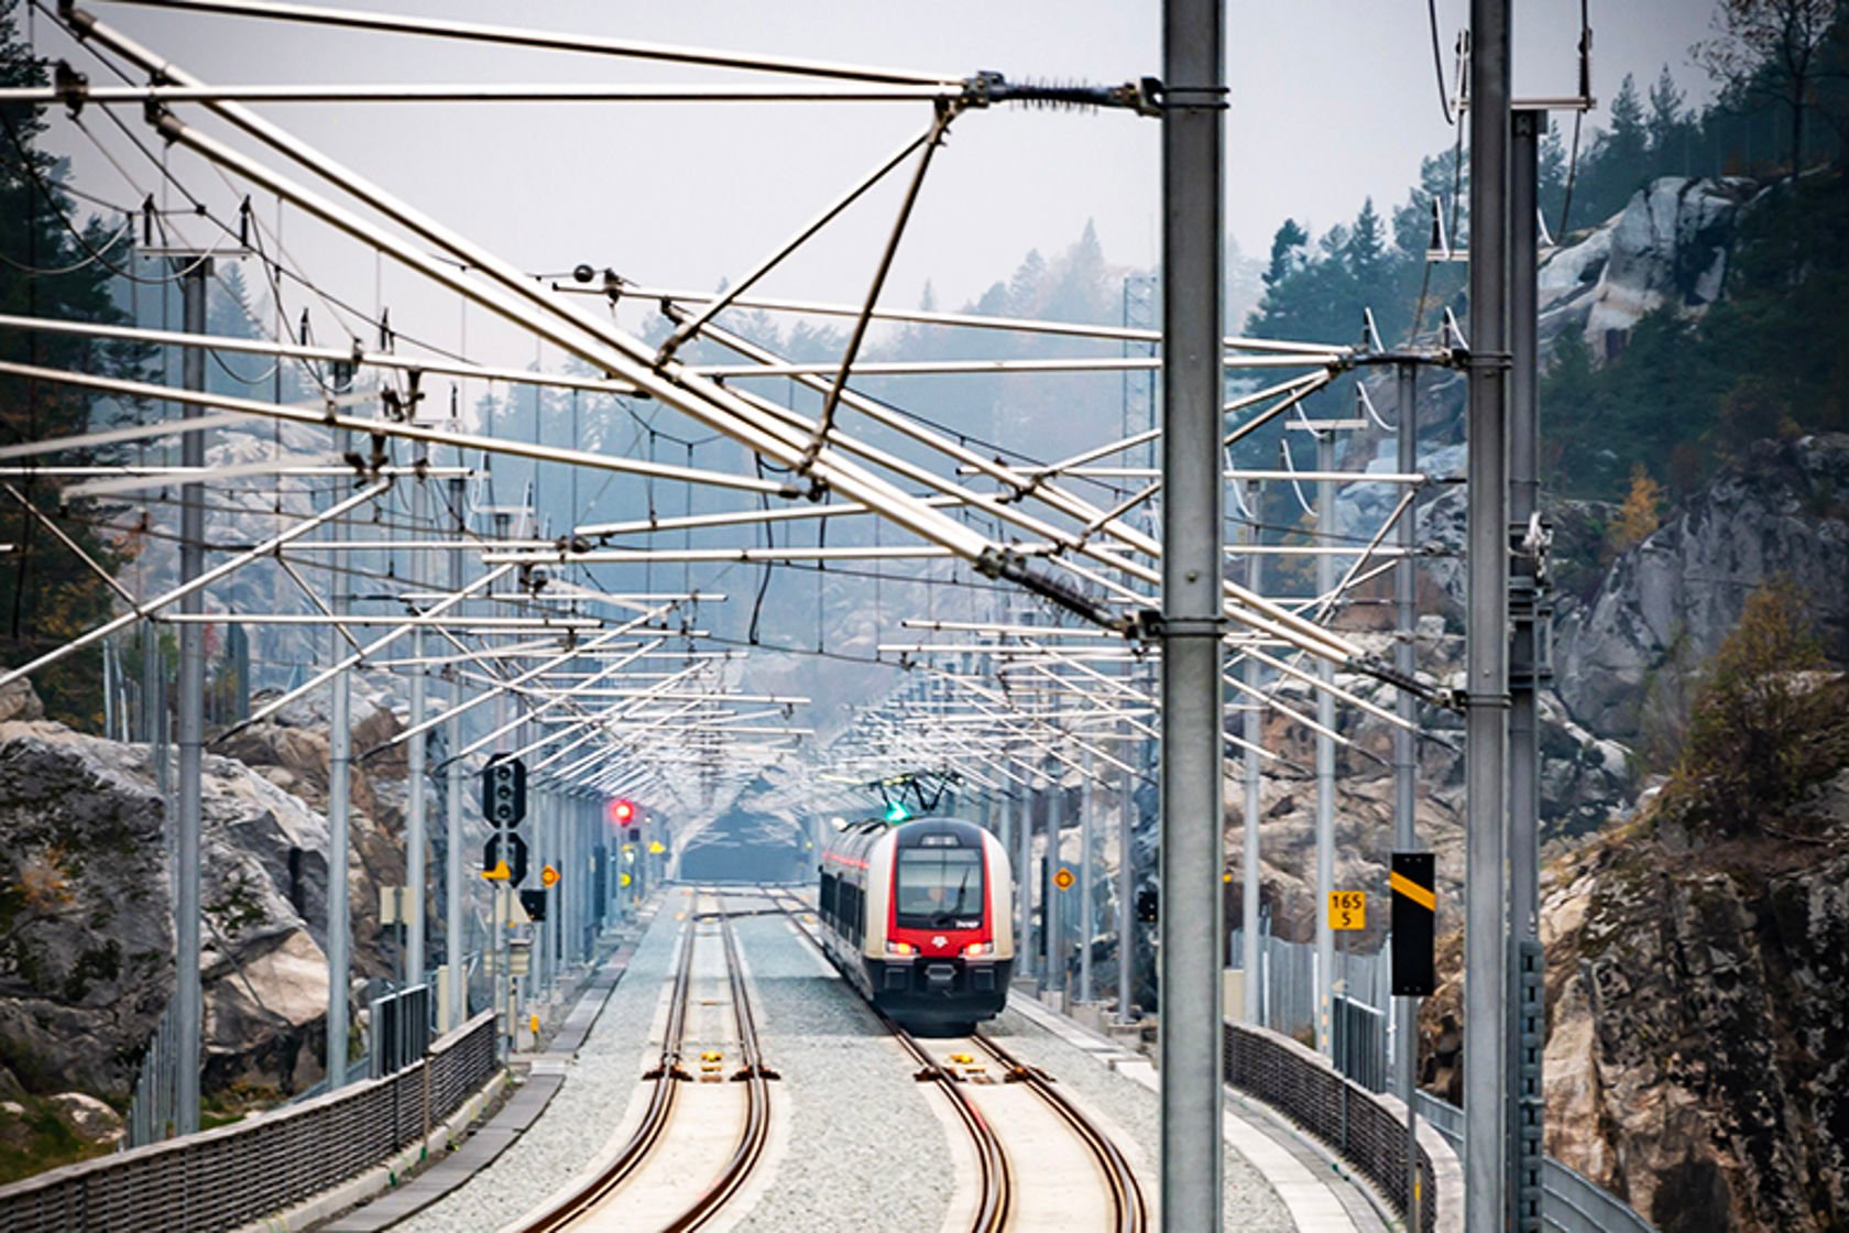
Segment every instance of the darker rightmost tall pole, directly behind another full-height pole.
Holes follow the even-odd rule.
[[[1511,1200],[1516,1233],[1540,1233],[1540,1050],[1544,1033],[1540,956],[1540,745],[1535,691],[1540,688],[1538,545],[1529,521],[1540,512],[1540,420],[1537,414],[1537,200],[1544,111],[1516,111],[1509,148],[1509,1113]]]

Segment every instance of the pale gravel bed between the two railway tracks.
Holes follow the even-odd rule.
[[[937,1233],[950,1148],[928,1087],[860,996],[780,917],[738,921],[773,1100],[791,1144],[738,1233]]]

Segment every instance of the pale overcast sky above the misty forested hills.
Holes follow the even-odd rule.
[[[1161,70],[1159,6],[1148,0],[398,0],[390,7],[954,76],[993,68],[1017,79],[1124,81]],[[1468,0],[1437,7],[1450,85]],[[1596,0],[1601,102],[1623,72],[1647,85],[1664,63],[1692,100],[1705,96],[1708,83],[1688,63],[1688,44],[1707,33],[1712,7],[1710,0]],[[741,79],[107,2],[96,11],[207,81]],[[1572,92],[1577,15],[1570,0],[1516,4],[1518,96]],[[70,54],[44,26],[41,18],[41,46]],[[72,59],[104,78],[81,55]],[[1424,0],[1230,0],[1228,79],[1228,229],[1252,255],[1263,255],[1287,214],[1320,231],[1350,218],[1366,194],[1383,205],[1400,200],[1420,155],[1451,142]],[[928,122],[924,104],[272,105],[266,113],[521,268],[592,262],[643,283],[703,288],[747,270]],[[141,124],[139,111],[122,115]],[[135,200],[68,124],[54,120],[52,142],[76,157],[80,185]],[[198,166],[187,176],[216,183]],[[954,307],[1004,279],[1026,250],[1063,248],[1087,218],[1109,261],[1152,264],[1156,200],[1154,120],[1024,109],[965,115],[932,168],[888,299],[915,303],[930,277],[939,303]],[[895,203],[895,192],[869,196],[767,288],[858,298]],[[453,320],[453,309],[438,311],[403,285],[405,275],[375,272],[351,246],[294,226],[298,257],[359,303],[409,299],[423,303],[425,318]],[[394,309],[394,322],[405,314]],[[438,331],[435,322],[425,327]]]

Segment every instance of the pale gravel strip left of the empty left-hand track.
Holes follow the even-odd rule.
[[[533,1209],[577,1176],[618,1129],[638,1076],[647,1068],[649,1022],[667,980],[677,911],[686,898],[669,889],[662,909],[629,961],[629,972],[610,995],[564,1087],[545,1113],[486,1170],[410,1220],[403,1233],[492,1233]],[[651,1057],[653,1059],[653,1057]]]

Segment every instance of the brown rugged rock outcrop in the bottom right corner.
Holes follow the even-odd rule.
[[[1546,897],[1548,1150],[1664,1233],[1849,1222],[1849,775],[1818,841],[1601,841]]]

